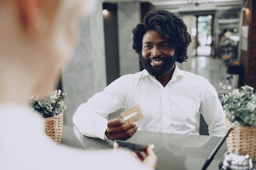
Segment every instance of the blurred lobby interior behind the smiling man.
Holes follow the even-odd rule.
[[[176,13],[187,25],[192,43],[188,62],[176,63],[180,69],[207,78],[219,96],[245,84],[256,87],[255,0],[101,0],[81,20],[76,51],[61,76],[65,125],[73,125],[76,109],[95,93],[143,70],[132,49],[132,29],[153,9]],[[198,132],[208,133],[203,119]]]

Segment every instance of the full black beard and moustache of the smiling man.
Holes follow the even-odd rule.
[[[148,71],[150,75],[153,76],[162,76],[170,73],[176,62],[176,58],[177,57],[175,54],[169,57],[153,57],[151,59],[161,59],[164,62],[163,66],[160,69],[154,69],[153,66],[151,66],[150,64],[150,62],[152,62],[151,59],[145,59],[142,57],[141,53],[139,54],[139,60],[141,61],[143,67],[146,69],[146,71]]]

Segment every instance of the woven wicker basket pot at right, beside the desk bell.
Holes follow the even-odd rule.
[[[227,119],[225,121],[227,132],[233,123]],[[237,145],[240,153],[248,154],[252,161],[256,161],[256,127],[235,126],[227,137],[227,149],[234,151]]]

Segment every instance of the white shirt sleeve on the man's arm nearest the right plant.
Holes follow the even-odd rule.
[[[210,136],[225,135],[225,113],[215,88],[206,80],[200,105]]]

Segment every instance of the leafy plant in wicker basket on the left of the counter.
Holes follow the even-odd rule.
[[[63,128],[63,112],[66,110],[65,96],[61,90],[50,92],[49,96],[30,100],[32,110],[38,111],[45,119],[45,132],[57,144],[61,142]]]

